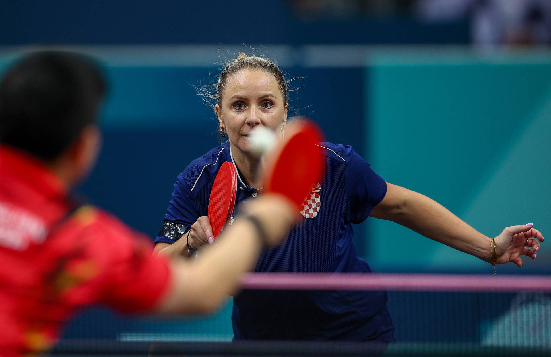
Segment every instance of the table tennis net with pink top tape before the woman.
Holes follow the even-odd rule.
[[[123,318],[91,310],[69,325],[53,355],[551,355],[549,276],[252,273],[242,286],[386,290],[397,342],[231,342],[229,303],[202,318]]]

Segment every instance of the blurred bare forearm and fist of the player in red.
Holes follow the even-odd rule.
[[[226,294],[236,291],[240,274],[255,266],[263,244],[280,243],[299,217],[296,207],[278,195],[258,197],[241,208],[243,215],[252,218],[237,218],[215,244],[201,250],[199,259],[176,260],[172,286],[160,302],[159,312],[200,314],[214,310]]]

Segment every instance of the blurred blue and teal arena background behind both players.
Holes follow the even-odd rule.
[[[241,51],[275,59],[296,78],[290,106],[388,182],[490,236],[526,222],[551,232],[551,2],[4,0],[0,18],[2,72],[44,47],[104,65],[104,147],[79,191],[152,239],[177,174],[219,140],[194,86],[212,83]],[[379,272],[493,273],[394,223],[368,219],[355,239]],[[538,259],[498,274],[550,274],[550,258],[543,244]],[[429,300],[434,311],[455,304]],[[395,321],[397,339],[450,340],[430,321],[434,334],[419,337],[408,321],[426,311],[412,311]],[[461,313],[466,326],[474,313]],[[230,303],[208,318],[128,318],[100,307],[75,317],[64,338],[230,340],[230,315]],[[496,318],[476,318],[476,331],[462,329],[455,342],[479,342]]]

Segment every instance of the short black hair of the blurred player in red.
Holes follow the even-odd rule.
[[[29,54],[0,82],[0,144],[56,160],[96,122],[105,91],[99,68],[84,56]]]

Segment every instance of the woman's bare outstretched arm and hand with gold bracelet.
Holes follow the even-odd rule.
[[[386,196],[373,208],[371,216],[396,222],[425,237],[491,262],[489,237],[477,232],[438,202],[415,191],[387,183]],[[543,241],[543,236],[531,224],[505,228],[495,237],[497,263],[512,261],[521,266],[520,255],[536,258],[536,251],[541,248],[538,240]]]

